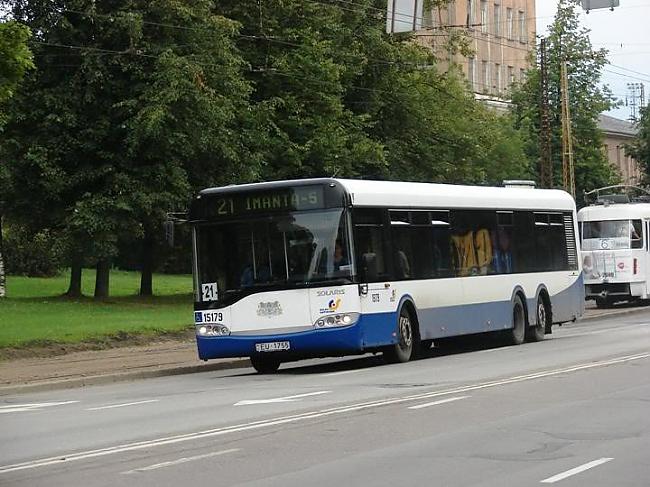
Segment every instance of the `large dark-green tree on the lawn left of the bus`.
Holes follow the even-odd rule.
[[[22,0],[38,75],[13,104],[4,145],[12,211],[61,231],[79,291],[95,262],[96,297],[108,294],[120,239],[155,239],[166,212],[198,185],[256,174],[237,24],[211,1]],[[151,292],[151,266],[141,290]]]

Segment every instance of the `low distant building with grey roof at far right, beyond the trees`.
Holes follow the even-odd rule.
[[[598,126],[603,131],[603,151],[607,154],[610,164],[621,173],[622,183],[638,185],[642,179],[639,164],[625,153],[625,145],[631,143],[637,133],[634,124],[627,120],[600,115]]]

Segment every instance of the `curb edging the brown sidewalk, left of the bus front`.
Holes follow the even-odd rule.
[[[213,372],[216,370],[248,368],[250,366],[251,362],[249,359],[235,359],[212,364],[181,365],[157,370],[135,370],[131,372],[76,377],[74,379],[34,382],[31,384],[13,384],[0,386],[0,396],[9,394],[22,394],[28,392],[48,392],[61,389],[74,389],[77,387],[113,384],[116,382],[128,382],[138,379],[153,379],[157,377],[167,377],[172,375],[194,374],[197,372]]]

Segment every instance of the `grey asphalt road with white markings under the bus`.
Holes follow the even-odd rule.
[[[0,485],[649,485],[650,310],[429,355],[6,396]]]

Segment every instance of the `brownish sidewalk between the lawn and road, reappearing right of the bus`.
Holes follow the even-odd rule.
[[[650,308],[623,305],[601,310],[588,303],[581,321],[644,310]],[[0,361],[0,396],[243,367],[250,367],[248,359],[200,361],[193,339],[166,340],[144,346]]]

